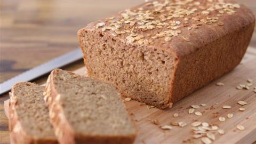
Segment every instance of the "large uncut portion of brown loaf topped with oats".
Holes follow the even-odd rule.
[[[229,0],[153,1],[78,31],[90,77],[158,108],[234,69],[255,18]]]

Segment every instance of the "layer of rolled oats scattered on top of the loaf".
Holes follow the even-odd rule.
[[[109,17],[96,23],[96,28],[109,30],[111,35],[125,35],[127,43],[154,44],[154,39],[171,41],[172,37],[182,35],[184,30],[197,29],[204,25],[223,26],[219,21],[223,15],[236,13],[240,5],[224,0],[183,0],[148,2],[137,9],[127,9],[116,17]],[[156,29],[154,33],[146,31]],[[189,37],[182,36],[184,42]]]

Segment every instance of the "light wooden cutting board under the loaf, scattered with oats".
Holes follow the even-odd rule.
[[[86,68],[80,68],[74,73],[86,75]],[[253,80],[250,90],[237,90],[239,84],[246,84],[247,79]],[[222,82],[224,86],[215,85]],[[193,138],[191,123],[195,121],[207,122],[216,125],[219,129],[225,130],[225,134],[220,135],[217,131],[212,131],[216,140],[214,143],[253,143],[256,141],[256,50],[249,49],[241,64],[229,74],[220,77],[209,85],[189,95],[188,97],[175,103],[172,108],[160,110],[149,108],[137,101],[125,101],[127,110],[133,117],[138,129],[138,136],[135,143],[202,143],[201,139]],[[246,106],[237,104],[237,101],[246,101]],[[206,106],[196,109],[201,111],[202,116],[188,114],[191,105]],[[231,106],[231,109],[223,109],[223,105]],[[239,111],[239,108],[245,111]],[[173,117],[178,113],[178,117]],[[233,118],[227,118],[227,114],[234,114]],[[220,122],[219,117],[225,117],[225,122]],[[157,119],[158,125],[150,120]],[[172,130],[162,130],[159,127],[170,125],[171,122],[186,122],[187,126],[172,126]],[[244,131],[236,128],[243,125]]]

